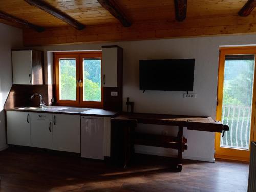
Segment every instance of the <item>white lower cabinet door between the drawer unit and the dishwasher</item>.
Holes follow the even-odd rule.
[[[53,149],[80,153],[80,116],[53,114]]]

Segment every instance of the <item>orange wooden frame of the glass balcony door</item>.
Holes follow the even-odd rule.
[[[251,126],[250,126],[250,139],[253,141],[256,139],[255,130],[255,108],[256,108],[256,46],[246,47],[221,47],[219,55],[219,70],[218,70],[218,91],[217,91],[217,108],[216,108],[216,120],[221,121],[222,118],[222,103],[223,103],[223,86],[224,86],[224,67],[226,55],[255,55],[254,57],[254,79],[253,79],[253,91],[252,91],[252,106],[251,106]],[[221,133],[215,135],[215,158],[231,159],[239,161],[249,161],[250,150],[240,150],[235,148],[220,147]]]

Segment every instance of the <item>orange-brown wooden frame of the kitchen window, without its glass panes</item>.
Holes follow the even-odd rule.
[[[101,101],[83,101],[83,58],[100,58],[101,74],[102,74],[102,52],[54,52],[54,80],[55,80],[55,96],[57,106],[78,106],[87,108],[103,108],[103,86],[101,84]],[[59,98],[59,59],[75,58],[76,59],[76,101],[60,100]],[[79,80],[82,80],[79,83]],[[102,76],[101,76],[102,82]]]

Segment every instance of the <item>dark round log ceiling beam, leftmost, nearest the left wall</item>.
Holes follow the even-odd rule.
[[[4,20],[8,20],[10,22],[18,23],[22,26],[25,26],[25,27],[28,27],[28,28],[31,28],[31,29],[34,29],[37,32],[42,32],[42,31],[45,30],[43,27],[34,25],[32,23],[27,22],[26,20],[20,19],[20,18],[15,17],[15,16],[12,16],[8,13],[3,12],[3,11],[0,11],[0,18],[2,18]]]

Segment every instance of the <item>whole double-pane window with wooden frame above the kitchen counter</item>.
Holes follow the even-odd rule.
[[[101,52],[54,53],[57,105],[103,107]]]

